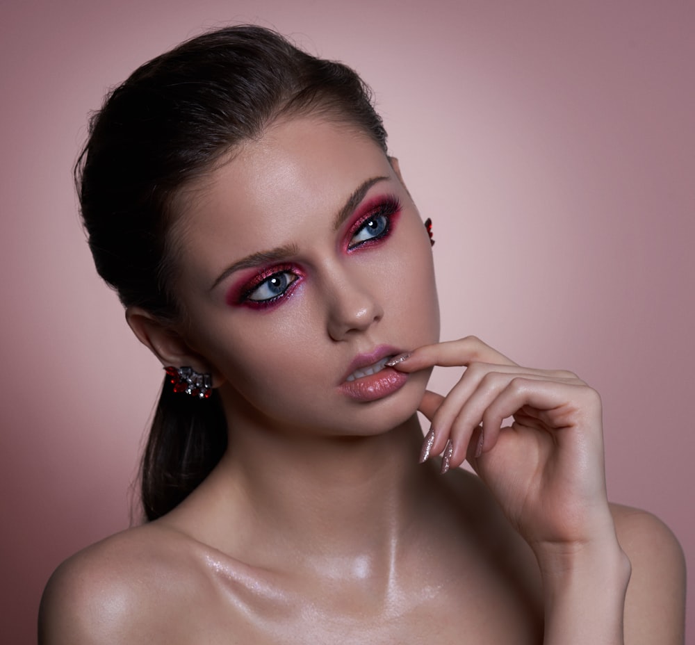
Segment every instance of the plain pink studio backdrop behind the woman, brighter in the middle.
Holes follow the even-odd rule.
[[[33,642],[55,566],[128,525],[162,376],[79,229],[86,113],[227,22],[294,34],[373,85],[434,219],[443,338],[594,384],[612,498],[692,557],[692,3],[25,1],[0,20],[0,639]]]

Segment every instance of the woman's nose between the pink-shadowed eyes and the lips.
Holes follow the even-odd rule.
[[[364,332],[381,319],[384,311],[375,297],[374,279],[365,275],[341,275],[328,289],[328,334],[343,341]]]

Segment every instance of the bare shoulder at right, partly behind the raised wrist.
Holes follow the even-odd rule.
[[[625,608],[625,642],[682,643],[685,639],[685,555],[655,515],[611,505],[632,575]]]

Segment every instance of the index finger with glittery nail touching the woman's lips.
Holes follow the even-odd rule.
[[[486,345],[476,336],[466,336],[457,341],[444,341],[434,345],[423,345],[410,352],[407,357],[396,357],[386,365],[400,372],[417,372],[435,365],[441,367],[468,366],[471,363],[516,365],[505,354]]]

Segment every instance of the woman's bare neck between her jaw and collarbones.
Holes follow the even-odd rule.
[[[294,557],[314,564],[338,559],[354,566],[367,554],[385,562],[426,514],[435,475],[418,464],[423,434],[416,416],[367,437],[234,427],[211,483],[223,491],[224,509],[232,509],[231,532],[247,546],[260,535],[268,553],[292,545]]]

